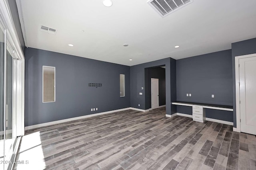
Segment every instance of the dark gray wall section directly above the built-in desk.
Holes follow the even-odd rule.
[[[177,60],[176,76],[177,101],[233,105],[231,50]]]

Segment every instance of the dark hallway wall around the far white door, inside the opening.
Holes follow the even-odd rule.
[[[145,83],[148,83],[148,92],[145,93],[146,101],[148,101],[148,106],[146,109],[151,108],[151,78],[158,78],[158,91],[159,91],[159,106],[166,104],[165,102],[165,68],[145,68],[148,69],[148,76],[145,75]],[[146,82],[147,81],[147,82]]]

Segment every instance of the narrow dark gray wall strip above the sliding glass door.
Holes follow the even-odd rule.
[[[12,20],[14,22],[16,32],[18,34],[20,46],[22,48],[23,53],[25,54],[25,43],[24,43],[24,38],[23,38],[22,29],[21,29],[21,25],[20,25],[20,18],[19,18],[19,14],[18,14],[16,0],[8,0],[8,4],[9,4],[9,8],[10,8],[10,12],[12,15]]]

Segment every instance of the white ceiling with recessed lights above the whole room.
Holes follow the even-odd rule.
[[[26,46],[132,66],[231,49],[256,37],[256,0],[194,0],[165,18],[147,0],[112,1],[105,7],[102,0],[20,0]]]

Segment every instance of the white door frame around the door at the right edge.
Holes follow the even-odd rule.
[[[256,54],[241,55],[235,57],[235,81],[236,81],[236,128],[233,127],[233,131],[241,132],[240,122],[240,79],[239,79],[239,59],[256,57]]]

